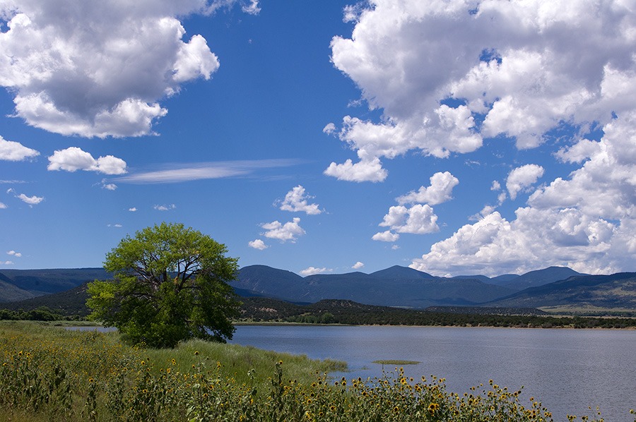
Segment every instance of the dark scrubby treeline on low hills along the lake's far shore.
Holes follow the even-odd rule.
[[[267,298],[242,298],[241,319],[245,322],[337,323],[346,325],[440,325],[457,327],[636,327],[634,318],[556,317],[550,315],[501,315],[416,311],[387,306],[362,305],[352,301],[319,301],[296,305]],[[510,313],[510,309],[507,310]]]

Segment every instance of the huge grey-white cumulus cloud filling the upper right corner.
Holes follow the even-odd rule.
[[[344,116],[329,131],[363,167],[411,150],[472,152],[497,135],[536,147],[563,122],[583,134],[634,109],[636,22],[625,2],[372,0],[345,16],[355,28],[331,40],[331,60],[382,116]],[[593,146],[563,158],[580,161]],[[326,174],[364,180],[351,161],[339,165]]]

